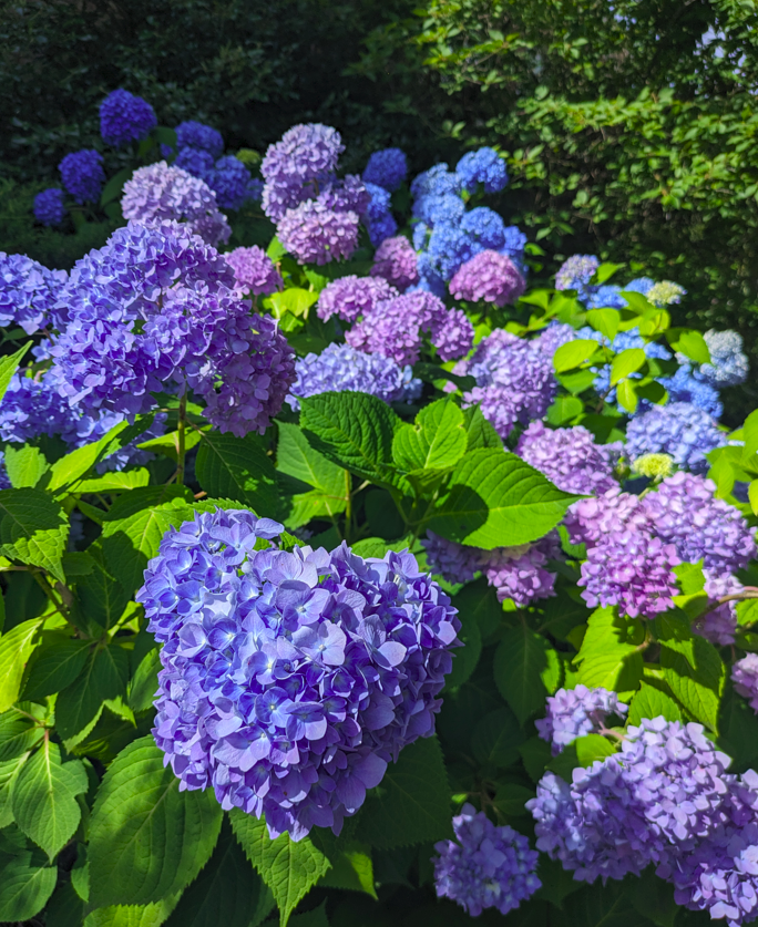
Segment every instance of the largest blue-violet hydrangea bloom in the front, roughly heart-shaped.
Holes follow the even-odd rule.
[[[163,645],[154,735],[182,787],[297,841],[339,834],[433,733],[460,621],[411,554],[256,549],[281,532],[248,511],[196,514],[136,599]]]

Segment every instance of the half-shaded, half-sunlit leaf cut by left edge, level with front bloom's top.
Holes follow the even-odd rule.
[[[42,567],[65,583],[61,557],[69,537],[63,508],[40,490],[0,491],[0,554]]]

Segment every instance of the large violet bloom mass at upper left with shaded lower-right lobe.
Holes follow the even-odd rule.
[[[153,392],[188,387],[242,436],[266,429],[294,380],[276,322],[250,316],[224,257],[176,223],[117,229],[76,262],[59,305],[59,391],[91,414],[147,412]]]

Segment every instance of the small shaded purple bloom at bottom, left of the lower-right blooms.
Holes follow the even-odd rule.
[[[496,827],[468,803],[452,823],[457,843],[434,844],[439,898],[451,898],[471,917],[479,917],[484,908],[508,914],[541,887],[535,875],[539,854],[523,834],[506,824]]]

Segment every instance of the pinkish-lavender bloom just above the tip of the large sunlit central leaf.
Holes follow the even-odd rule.
[[[519,439],[516,454],[565,493],[601,495],[616,485],[618,446],[595,444],[582,425],[549,429],[532,422]]]

